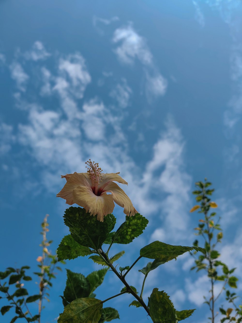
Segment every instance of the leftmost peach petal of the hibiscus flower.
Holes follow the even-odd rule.
[[[85,176],[83,176],[82,173],[78,174],[77,172],[75,172],[70,177],[68,177],[65,186],[56,195],[56,197],[61,197],[66,200],[66,204],[72,205],[74,203],[72,192],[77,186],[86,186],[89,187],[91,190],[91,186],[86,180]]]

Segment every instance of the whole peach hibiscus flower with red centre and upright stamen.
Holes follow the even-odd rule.
[[[137,213],[126,193],[113,181],[128,183],[118,173],[101,174],[98,163],[90,159],[86,173],[61,175],[66,179],[63,189],[56,195],[66,200],[66,204],[74,203],[82,206],[86,213],[97,215],[97,220],[103,222],[105,215],[114,210],[114,202],[124,208],[124,214],[132,216]],[[86,166],[87,167],[87,166]],[[111,193],[111,194],[107,194]]]

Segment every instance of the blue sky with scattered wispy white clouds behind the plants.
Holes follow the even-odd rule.
[[[149,224],[125,250],[130,265],[154,240],[192,245],[194,182],[207,177],[222,216],[221,260],[241,267],[242,4],[239,0],[0,2],[1,268],[36,270],[40,223],[50,214],[52,251],[68,233],[61,174],[89,158],[120,172]],[[117,225],[125,216],[116,206]],[[235,258],[235,250],[237,256]],[[127,280],[137,290],[138,269]],[[165,290],[187,319],[205,323],[209,285],[181,256],[151,272],[144,296]],[[81,258],[66,268],[99,268]],[[242,278],[237,270],[237,276]],[[56,322],[66,273],[58,274],[43,322]],[[107,288],[108,285],[108,288]],[[122,288],[108,272],[97,298]],[[36,292],[32,287],[33,293]],[[238,292],[241,293],[239,284]],[[118,322],[147,322],[132,297],[110,301]],[[8,314],[1,322],[9,322]]]

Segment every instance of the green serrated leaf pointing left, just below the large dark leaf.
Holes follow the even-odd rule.
[[[92,251],[90,248],[77,243],[70,234],[64,236],[57,248],[57,257],[59,261],[75,259],[79,256],[84,257],[91,254]]]

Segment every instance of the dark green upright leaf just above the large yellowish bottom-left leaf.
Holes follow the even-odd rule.
[[[64,297],[70,303],[73,300],[90,295],[90,283],[82,274],[73,273],[66,269],[67,280]]]

